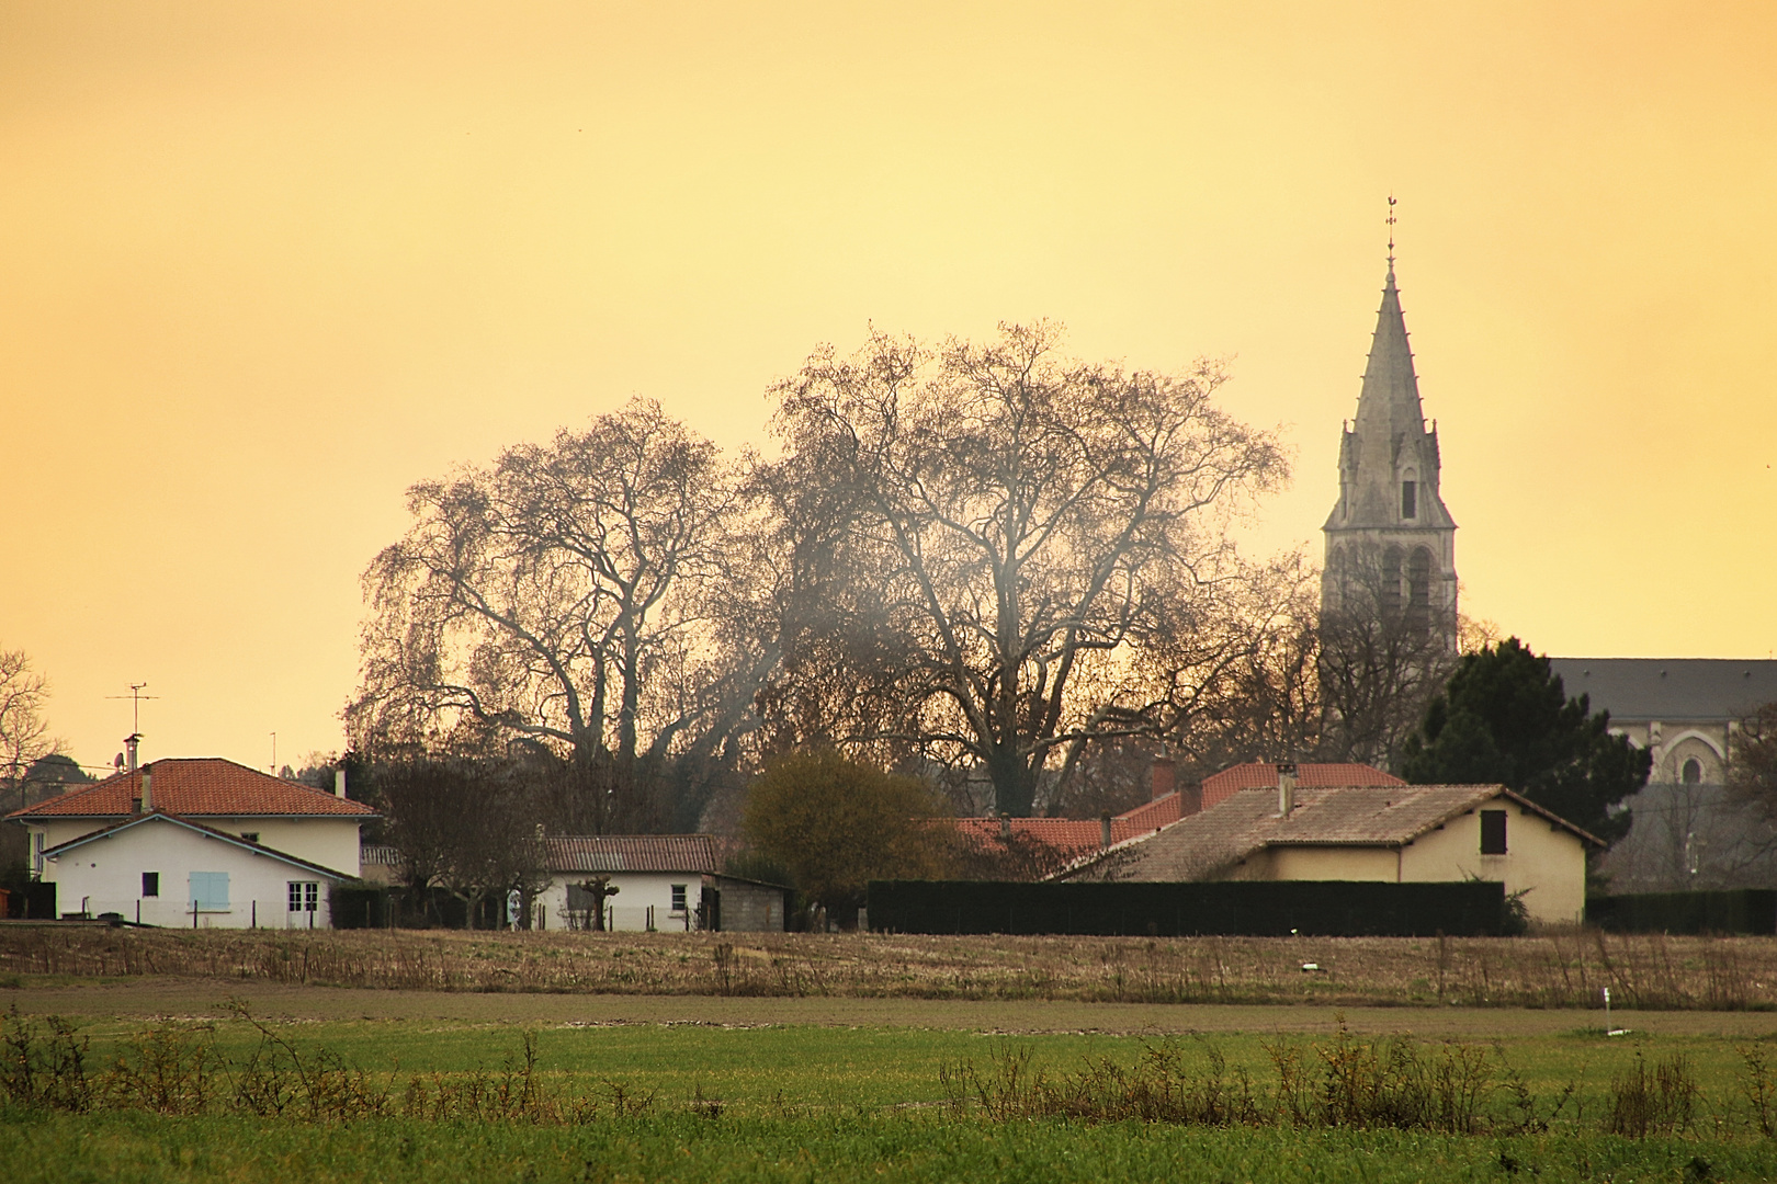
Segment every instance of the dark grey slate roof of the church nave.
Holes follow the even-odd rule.
[[[1569,698],[1619,722],[1743,719],[1777,703],[1770,659],[1550,659]]]

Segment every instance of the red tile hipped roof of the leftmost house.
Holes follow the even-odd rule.
[[[297,815],[373,818],[364,802],[334,797],[299,781],[272,777],[220,756],[156,760],[135,772],[119,772],[98,785],[14,809],[7,818],[116,818],[135,813],[142,797],[142,774],[151,772],[149,797],[155,809],[203,818],[206,815]]]

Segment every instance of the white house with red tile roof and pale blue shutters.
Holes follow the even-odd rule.
[[[7,815],[64,916],[199,928],[325,927],[377,813],[220,758],[158,760]]]

